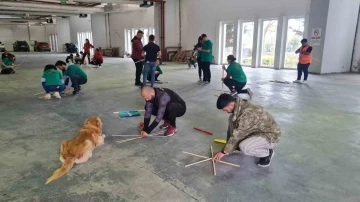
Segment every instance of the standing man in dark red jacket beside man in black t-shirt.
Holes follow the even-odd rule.
[[[144,32],[138,30],[136,36],[134,36],[134,38],[131,40],[131,44],[132,44],[131,58],[133,59],[136,67],[135,86],[142,86],[140,77],[144,66],[144,61],[143,61],[144,57],[142,56],[143,44],[141,42],[143,36],[144,36]]]

